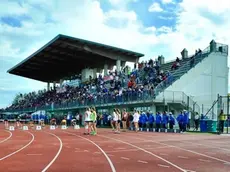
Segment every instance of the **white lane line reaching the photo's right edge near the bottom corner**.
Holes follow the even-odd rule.
[[[136,137],[132,137],[132,138],[138,139]],[[142,140],[142,139],[138,139],[138,140]],[[213,157],[213,156],[209,156],[209,155],[206,155],[206,154],[203,154],[203,153],[199,153],[199,152],[196,152],[196,151],[192,151],[192,150],[189,150],[189,149],[184,149],[184,148],[181,148],[181,147],[177,147],[177,146],[173,146],[173,145],[168,145],[168,144],[156,142],[156,141],[153,141],[153,140],[148,140],[148,141],[153,142],[153,143],[157,143],[157,144],[160,144],[160,145],[170,146],[172,148],[177,148],[177,149],[180,149],[180,150],[183,150],[183,151],[186,151],[186,152],[190,152],[190,153],[197,154],[197,155],[200,155],[200,156],[203,156],[203,157],[214,159],[216,161],[220,161],[220,162],[223,162],[223,163],[230,163],[229,161],[225,161],[223,159],[219,159],[219,158],[216,158],[216,157]],[[165,140],[165,141],[167,141],[167,140]]]

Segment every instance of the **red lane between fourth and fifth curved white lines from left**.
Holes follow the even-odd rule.
[[[99,130],[100,131],[100,130]],[[101,132],[100,132],[101,133]],[[103,135],[107,135],[109,138],[103,138],[98,136],[85,136],[86,138],[92,140],[96,144],[98,144],[105,153],[111,158],[116,171],[125,172],[178,172],[182,171],[179,167],[169,165],[159,157],[154,156],[153,154],[149,154],[143,152],[140,149],[134,148],[130,145],[121,143],[119,141],[112,140],[116,136],[114,133],[105,133]],[[86,148],[85,148],[86,149]],[[91,156],[99,156],[102,153],[98,150],[89,150],[88,154]]]

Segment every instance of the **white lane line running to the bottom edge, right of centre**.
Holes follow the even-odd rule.
[[[168,161],[168,160],[166,160],[166,159],[164,159],[164,158],[162,158],[162,157],[160,157],[160,156],[158,156],[158,155],[156,155],[156,154],[154,154],[154,153],[152,153],[152,152],[149,152],[149,151],[147,151],[147,150],[145,150],[145,149],[143,149],[143,148],[141,148],[141,147],[139,147],[139,146],[136,146],[136,145],[133,145],[133,144],[131,144],[131,143],[128,143],[128,142],[125,142],[125,141],[122,141],[122,140],[119,140],[119,139],[115,139],[115,138],[110,138],[110,137],[101,136],[101,135],[98,135],[98,136],[104,137],[104,138],[108,138],[108,139],[112,139],[112,140],[115,140],[115,141],[118,141],[118,142],[121,142],[121,143],[130,145],[130,146],[132,146],[132,147],[134,147],[134,148],[136,148],[136,149],[142,150],[143,152],[148,153],[148,154],[150,154],[150,155],[152,155],[152,156],[154,156],[154,157],[156,157],[156,158],[158,158],[158,159],[160,159],[160,160],[162,160],[162,161],[164,161],[164,162],[166,162],[166,163],[172,165],[173,167],[179,169],[180,171],[186,172],[183,168],[177,166],[176,164],[173,164],[172,162],[170,162],[170,161]]]

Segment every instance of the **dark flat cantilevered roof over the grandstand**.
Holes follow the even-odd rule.
[[[141,53],[59,34],[7,72],[54,82],[79,74],[86,67],[103,69],[105,63],[115,65],[117,59],[136,62],[142,56]]]

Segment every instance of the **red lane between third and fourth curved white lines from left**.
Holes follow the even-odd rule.
[[[69,129],[65,131],[67,132]],[[62,139],[63,148],[57,160],[47,171],[112,171],[104,155],[92,154],[92,152],[100,150],[87,139],[79,137],[80,134],[71,135],[59,129],[53,133]]]

